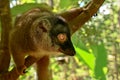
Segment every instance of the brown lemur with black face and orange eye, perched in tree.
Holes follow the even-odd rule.
[[[9,39],[18,74],[24,74],[36,62],[41,80],[48,80],[50,55],[75,55],[68,24],[45,9],[35,8],[19,15]]]

